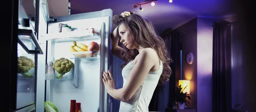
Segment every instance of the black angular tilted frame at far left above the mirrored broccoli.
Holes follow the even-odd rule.
[[[41,54],[43,55],[43,51],[41,47],[39,46],[38,40],[34,34],[34,32],[31,29],[18,29],[18,35],[26,35],[29,36],[32,40],[33,45],[35,46],[35,50],[29,50],[26,45],[18,38],[18,43],[20,46],[23,47],[23,49],[28,53],[28,54]]]

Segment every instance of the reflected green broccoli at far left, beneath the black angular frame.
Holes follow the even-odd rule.
[[[20,56],[17,60],[18,64],[18,74],[22,74],[26,78],[32,78],[33,76],[30,75],[28,72],[31,68],[35,67],[35,63],[32,59],[26,57],[26,56]]]

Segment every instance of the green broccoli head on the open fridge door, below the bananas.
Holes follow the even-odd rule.
[[[57,78],[62,78],[64,74],[67,72],[70,72],[70,70],[73,67],[73,63],[71,60],[68,60],[66,58],[61,57],[58,60],[55,60],[53,63],[53,68],[58,72],[59,74],[57,75]]]

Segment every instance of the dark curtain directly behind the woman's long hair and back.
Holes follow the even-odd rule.
[[[165,41],[169,55],[173,60],[172,63],[170,63],[172,75],[165,85],[156,87],[148,106],[150,112],[164,112],[166,107],[172,108],[172,103],[175,102],[175,76],[180,75],[180,32],[173,29],[166,29],[160,36]],[[165,100],[166,105],[163,103]]]

